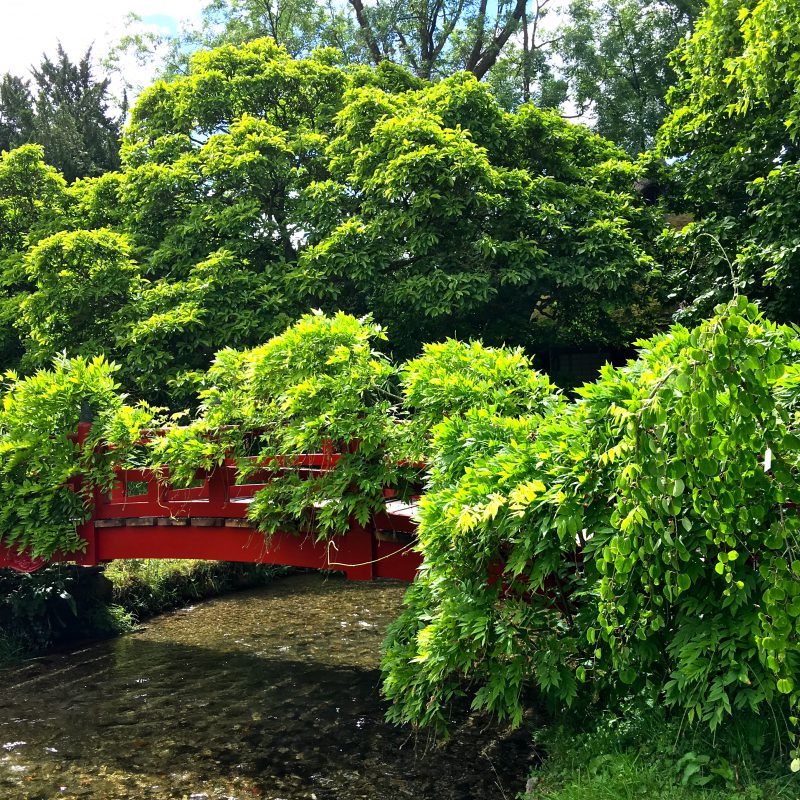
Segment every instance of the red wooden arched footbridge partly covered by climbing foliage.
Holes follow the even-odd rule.
[[[313,477],[332,469],[337,459],[335,453],[305,455],[283,469]],[[336,570],[350,580],[405,581],[413,580],[420,564],[413,549],[414,503],[394,500],[391,492],[385,511],[370,524],[352,522],[347,533],[318,541],[313,531],[267,536],[247,519],[253,496],[269,480],[266,470],[248,475],[263,482],[238,484],[238,469],[230,461],[199,470],[197,485],[189,489],[172,488],[152,470],[120,468],[116,475],[110,494],[95,491],[92,516],[78,526],[85,551],[52,561],[95,566],[117,558],[197,558]],[[45,563],[0,544],[0,567],[29,572]]]

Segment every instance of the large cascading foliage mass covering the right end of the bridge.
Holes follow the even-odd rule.
[[[796,705],[800,337],[740,298],[640,347],[542,419],[435,429],[394,719],[443,727],[464,681],[515,721],[527,685],[661,694],[712,728]]]

